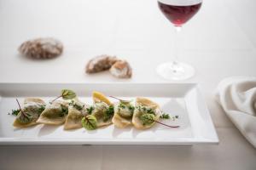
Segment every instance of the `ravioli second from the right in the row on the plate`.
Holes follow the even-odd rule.
[[[112,122],[114,126],[124,128],[131,125],[134,106],[131,103],[119,102],[114,105]]]

